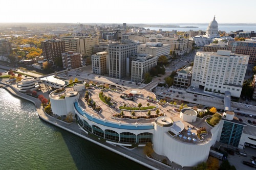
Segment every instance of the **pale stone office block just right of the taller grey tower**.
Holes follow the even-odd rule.
[[[137,58],[132,60],[131,64],[131,79],[133,82],[142,82],[145,73],[157,65],[157,57],[149,54],[137,54],[136,56]]]

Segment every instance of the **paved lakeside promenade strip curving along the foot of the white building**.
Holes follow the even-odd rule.
[[[77,135],[77,136],[79,136],[83,139],[86,139],[90,142],[93,142],[93,143],[99,145],[100,147],[103,147],[103,148],[105,148],[109,151],[112,151],[112,152],[114,152],[118,155],[121,155],[121,156],[123,156],[127,159],[130,159],[130,160],[132,160],[136,163],[139,163],[139,164],[141,164],[141,165],[143,165],[147,168],[150,168],[150,169],[170,169],[170,168],[172,168],[170,166],[164,165],[161,162],[154,161],[154,163],[152,163],[152,160],[150,160],[150,158],[148,158],[148,157],[144,158],[142,155],[139,155],[139,154],[137,154],[135,152],[132,152],[131,150],[125,149],[123,147],[118,147],[115,144],[106,143],[106,142],[98,142],[97,140],[95,140],[93,138],[84,136],[84,135],[86,135],[86,133],[84,133],[75,122],[72,123],[71,125],[68,125],[68,124],[63,123],[62,121],[60,122],[58,119],[55,119],[53,117],[50,117],[49,115],[46,115],[44,113],[44,111],[42,110],[41,102],[38,99],[33,98],[32,96],[20,93],[12,85],[9,85],[9,84],[3,83],[3,82],[0,82],[0,88],[4,88],[5,90],[7,90],[12,95],[33,103],[36,107],[36,112],[37,112],[38,117],[41,120],[44,120],[45,122],[47,122],[51,125],[54,125],[58,128],[66,130],[70,133],[73,133],[74,135]],[[59,122],[57,123],[56,120],[59,121]],[[65,126],[63,126],[61,124],[65,125]],[[77,126],[77,127],[74,127],[74,126]],[[118,147],[118,148],[116,148],[116,147]],[[126,152],[126,154],[121,152],[121,151]],[[147,164],[145,162],[148,162],[148,163],[151,162],[152,165]],[[157,165],[159,168],[157,168],[156,166],[153,166],[153,165]]]

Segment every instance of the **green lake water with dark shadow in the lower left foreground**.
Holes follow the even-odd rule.
[[[0,88],[0,169],[148,169],[39,119]]]

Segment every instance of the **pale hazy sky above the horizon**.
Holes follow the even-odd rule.
[[[256,23],[255,0],[2,0],[0,22]]]

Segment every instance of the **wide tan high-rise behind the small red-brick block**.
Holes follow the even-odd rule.
[[[93,46],[99,45],[99,38],[95,37],[63,37],[66,52],[73,51],[83,56],[91,56]]]

